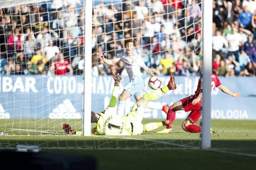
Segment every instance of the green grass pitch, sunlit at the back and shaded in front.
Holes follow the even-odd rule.
[[[0,131],[3,131],[1,125],[6,122],[1,121]],[[149,121],[152,122],[145,120],[143,123]],[[157,134],[153,131],[139,136],[111,138],[62,134],[0,136],[0,144],[2,148],[7,146],[15,148],[17,144],[32,144],[42,147],[42,152],[89,155],[96,159],[98,169],[254,169],[256,167],[256,121],[212,120],[212,128],[217,133],[212,134],[210,150],[199,149],[199,134],[183,131],[181,122],[182,120],[175,120],[171,134]],[[72,122],[68,123],[71,125]],[[78,128],[81,122],[76,123],[75,127]],[[61,124],[63,122],[55,122],[52,131],[61,132]],[[35,124],[15,123],[15,128],[19,127],[32,128]],[[40,129],[46,131],[46,125]],[[13,132],[17,133],[17,131]],[[28,132],[24,133],[26,134]]]

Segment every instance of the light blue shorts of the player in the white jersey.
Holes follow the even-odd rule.
[[[124,87],[128,93],[134,96],[134,98],[140,94],[144,95],[147,93],[145,89],[145,81],[141,76],[134,76],[132,80]]]

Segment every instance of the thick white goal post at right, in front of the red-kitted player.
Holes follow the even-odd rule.
[[[212,0],[203,0],[202,148],[211,147]]]

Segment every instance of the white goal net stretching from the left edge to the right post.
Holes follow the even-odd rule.
[[[100,113],[112,95],[112,74],[130,81],[125,64],[107,65],[97,58],[114,59],[125,52],[124,40],[134,41],[134,52],[164,85],[174,72],[177,89],[155,102],[172,105],[194,94],[201,74],[202,2],[200,0],[92,0],[92,68],[84,69],[84,1],[1,1],[0,9],[0,132],[22,136],[0,139],[1,148],[18,144],[43,148],[140,149],[200,147],[200,133],[181,128],[189,114],[177,111],[173,133],[164,128],[132,137],[67,138],[63,124],[83,129],[84,72],[92,73],[92,110]],[[146,90],[150,76],[141,69]],[[86,80],[90,81],[90,80]],[[88,94],[85,94],[88,95]],[[118,105],[117,101],[117,105]],[[125,101],[129,113],[131,96]],[[86,107],[84,103],[84,107]],[[162,110],[147,109],[142,123],[166,119]],[[200,120],[196,123],[200,126]],[[94,127],[95,124],[92,124]],[[47,138],[37,136],[47,135]],[[189,137],[188,137],[189,135]]]

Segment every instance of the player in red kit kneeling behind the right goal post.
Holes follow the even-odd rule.
[[[211,94],[213,90],[217,87],[222,92],[230,96],[240,97],[240,94],[238,92],[231,92],[226,86],[223,86],[220,83],[220,80],[216,74],[212,73],[211,76],[212,76]],[[198,121],[198,119],[202,115],[200,110],[201,103],[202,103],[202,92],[200,92],[201,83],[202,83],[202,78],[200,78],[198,81],[197,89],[194,95],[181,99],[180,101],[173,103],[170,107],[168,107],[168,105],[166,104],[163,106],[163,109],[162,109],[167,114],[167,120],[171,120],[172,123],[175,119],[176,111],[179,111],[179,110],[184,110],[185,112],[191,111],[188,117],[183,121],[181,125],[184,131],[191,132],[191,133],[198,133],[201,131],[201,127],[195,125],[195,123]],[[172,133],[172,125],[162,131],[158,131],[157,133]],[[215,132],[211,129],[211,133],[215,133]]]

